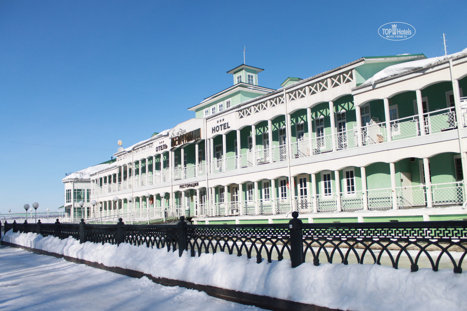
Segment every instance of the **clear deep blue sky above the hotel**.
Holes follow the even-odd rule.
[[[467,47],[464,1],[0,1],[0,213],[64,204],[64,173],[194,113],[243,62],[261,86],[361,56]],[[405,41],[378,28],[402,21]],[[16,143],[11,143],[16,142]],[[92,149],[62,148],[58,145]]]

